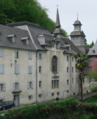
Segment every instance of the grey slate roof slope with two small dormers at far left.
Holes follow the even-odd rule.
[[[0,25],[0,32],[1,32],[0,46],[26,49],[26,50],[36,50],[31,39],[30,39],[28,32],[25,30],[12,28],[12,27],[8,27],[5,25]],[[12,43],[7,37],[8,35],[12,35],[12,34],[15,34],[15,40],[16,40],[15,43]],[[22,37],[28,37],[29,38],[29,45],[26,45],[21,41]]]

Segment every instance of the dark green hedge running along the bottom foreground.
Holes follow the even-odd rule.
[[[97,119],[96,112],[97,106],[77,103],[70,98],[13,109],[3,119]]]

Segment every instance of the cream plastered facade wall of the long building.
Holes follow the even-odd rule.
[[[5,90],[0,91],[0,100],[15,100],[16,104],[24,105],[50,101],[56,97],[64,99],[78,94],[78,72],[74,67],[73,56],[63,54],[64,49],[56,49],[56,47],[46,47],[46,49],[48,51],[36,52],[0,47],[0,50],[3,50],[0,65],[4,66],[4,72],[0,74],[0,84],[5,84]],[[18,58],[15,58],[15,51],[18,51]],[[32,58],[30,56],[29,59],[31,53]],[[52,73],[53,56],[58,58],[58,73],[56,74],[58,77],[54,77]],[[17,72],[15,72],[15,66],[18,66]],[[32,67],[30,73],[29,66]],[[55,80],[58,81],[58,86],[52,88],[52,81]],[[33,83],[32,87],[29,87],[29,82]],[[19,89],[14,89],[15,83],[19,83]]]

